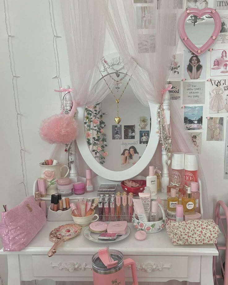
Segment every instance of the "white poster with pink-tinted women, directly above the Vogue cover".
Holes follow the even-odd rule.
[[[228,50],[211,51],[211,76],[228,76]]]

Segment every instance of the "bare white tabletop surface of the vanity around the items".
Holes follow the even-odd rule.
[[[26,248],[18,252],[18,254],[47,254],[52,247],[53,242],[49,240],[49,233],[54,228],[72,223],[72,221],[46,221],[46,224],[28,244]],[[132,223],[128,223],[131,229],[131,233],[128,238],[116,242],[110,243],[110,248],[121,251],[125,255],[188,255],[188,256],[215,256],[218,255],[218,251],[214,244],[205,245],[173,245],[166,230],[161,230],[156,234],[147,234],[145,240],[139,241],[134,238],[136,229]],[[83,231],[86,227],[83,227],[81,233],[64,242],[58,249],[56,254],[76,254],[76,255],[93,255],[98,249],[104,248],[108,243],[94,243],[87,240],[83,236]],[[17,252],[3,252],[0,250],[0,254],[15,254]]]

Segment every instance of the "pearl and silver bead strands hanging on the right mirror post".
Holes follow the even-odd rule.
[[[157,124],[158,124],[158,137],[162,148],[166,151],[168,158],[171,156],[172,139],[166,132],[165,122],[161,105],[157,108]]]

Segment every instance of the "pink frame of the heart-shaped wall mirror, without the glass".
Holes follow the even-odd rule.
[[[193,42],[188,38],[188,35],[185,31],[185,21],[187,17],[190,15],[195,15],[198,18],[201,18],[202,16],[205,15],[210,15],[212,16],[214,22],[215,22],[215,27],[213,30],[213,33],[211,37],[203,44],[201,47],[197,47],[194,45]],[[191,8],[191,9],[186,9],[182,13],[182,15],[179,18],[178,21],[178,32],[179,35],[183,41],[183,43],[186,45],[186,47],[191,50],[195,55],[202,55],[205,51],[208,50],[208,48],[214,43],[215,39],[217,38],[219,32],[221,30],[221,18],[220,15],[218,14],[217,11],[215,11],[213,8],[204,8],[204,9],[197,9],[197,8]]]

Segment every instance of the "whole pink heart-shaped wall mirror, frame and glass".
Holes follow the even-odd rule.
[[[202,55],[208,50],[220,30],[221,18],[213,8],[186,9],[178,21],[178,32],[183,43],[195,55]]]

